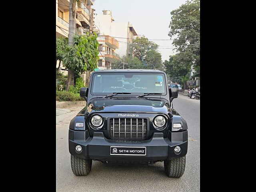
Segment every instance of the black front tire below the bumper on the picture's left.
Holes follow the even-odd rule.
[[[82,159],[71,155],[72,172],[77,176],[86,176],[90,173],[92,168],[91,159]]]

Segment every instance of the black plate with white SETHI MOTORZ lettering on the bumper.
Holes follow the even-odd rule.
[[[110,155],[145,156],[146,147],[110,146]]]

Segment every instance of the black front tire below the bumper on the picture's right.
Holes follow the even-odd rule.
[[[164,160],[164,171],[168,177],[179,178],[184,174],[186,156]]]

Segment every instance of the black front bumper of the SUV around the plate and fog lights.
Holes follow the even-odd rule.
[[[164,138],[163,133],[154,133],[149,140],[112,140],[104,137],[102,132],[94,132],[89,137],[88,131],[69,130],[68,147],[70,154],[83,158],[100,161],[132,161],[154,162],[172,157],[184,156],[188,150],[188,131],[170,132],[170,139]],[[82,146],[82,152],[76,153],[77,145]],[[146,147],[146,156],[115,156],[110,155],[110,146]],[[180,146],[180,154],[175,154],[174,148]]]

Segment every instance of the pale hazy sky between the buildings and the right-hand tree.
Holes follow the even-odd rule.
[[[102,10],[111,10],[116,22],[129,21],[138,35],[144,35],[148,39],[170,39],[170,12],[185,2],[186,0],[95,0],[92,8],[100,15]],[[159,45],[162,61],[169,60],[169,56],[175,54],[172,40],[154,42]]]

